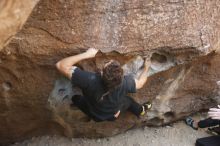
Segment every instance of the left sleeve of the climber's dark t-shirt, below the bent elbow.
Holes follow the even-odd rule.
[[[86,89],[89,86],[91,76],[91,72],[83,71],[74,66],[72,69],[71,83],[81,89]]]

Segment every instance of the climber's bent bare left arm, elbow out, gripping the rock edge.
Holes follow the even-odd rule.
[[[56,68],[67,78],[71,79],[72,72],[71,68],[73,65],[78,63],[81,60],[89,59],[95,57],[96,53],[98,52],[97,49],[89,48],[86,52],[70,56],[67,58],[64,58],[56,63]]]

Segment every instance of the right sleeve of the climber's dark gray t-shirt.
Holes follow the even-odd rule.
[[[128,93],[136,93],[136,84],[135,80],[131,75],[126,75],[124,77],[125,80],[125,88]]]

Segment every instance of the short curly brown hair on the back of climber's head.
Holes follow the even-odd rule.
[[[102,79],[108,90],[113,90],[121,84],[123,79],[123,69],[118,61],[111,60],[102,71]]]

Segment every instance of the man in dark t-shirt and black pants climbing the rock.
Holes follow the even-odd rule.
[[[116,60],[107,62],[100,73],[83,71],[75,66],[81,60],[95,57],[98,50],[89,48],[86,52],[67,57],[56,63],[57,69],[71,80],[72,85],[82,90],[83,96],[74,95],[73,105],[94,121],[113,121],[120,113],[131,111],[140,117],[151,108],[149,102],[138,104],[127,93],[135,93],[147,81],[150,62],[145,60],[143,72],[139,79],[123,75],[120,63]]]

